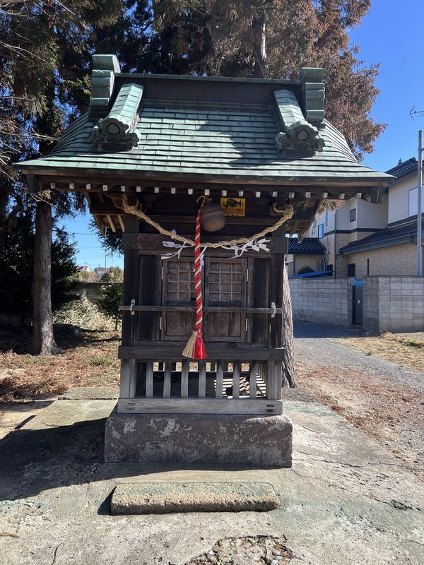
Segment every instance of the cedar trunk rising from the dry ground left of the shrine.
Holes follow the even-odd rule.
[[[33,353],[53,355],[60,349],[54,342],[52,320],[52,206],[37,202],[35,213],[33,278]]]

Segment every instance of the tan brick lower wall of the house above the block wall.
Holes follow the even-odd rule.
[[[370,251],[360,251],[343,256],[343,261],[355,263],[355,276],[367,276],[367,259],[370,259],[370,276],[415,275],[417,247],[412,243],[391,245]],[[347,266],[346,266],[347,273]]]

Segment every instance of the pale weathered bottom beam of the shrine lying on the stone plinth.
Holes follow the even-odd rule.
[[[134,398],[118,400],[121,414],[176,413],[176,414],[283,414],[282,400],[263,398]]]

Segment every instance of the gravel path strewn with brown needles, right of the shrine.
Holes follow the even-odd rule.
[[[424,374],[331,339],[360,335],[352,328],[295,323],[299,388],[312,391],[424,480]]]

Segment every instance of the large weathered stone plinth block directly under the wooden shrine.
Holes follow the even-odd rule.
[[[105,461],[291,466],[287,416],[118,414],[105,429]]]

